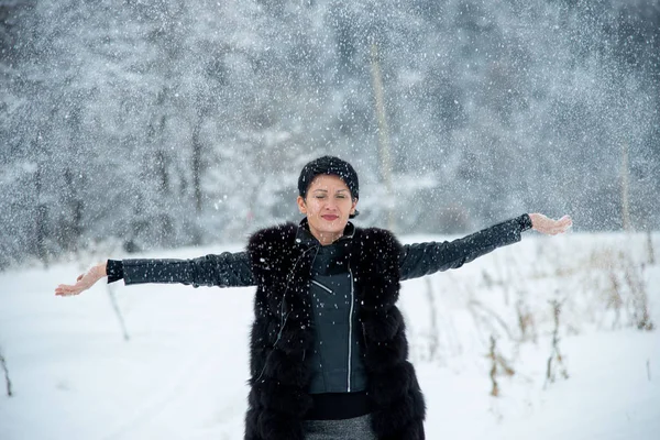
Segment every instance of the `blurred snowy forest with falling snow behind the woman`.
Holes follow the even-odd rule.
[[[235,243],[322,154],[358,224],[658,230],[659,108],[658,1],[0,0],[0,270]]]

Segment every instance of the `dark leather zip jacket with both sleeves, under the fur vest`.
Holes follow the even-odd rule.
[[[531,227],[529,216],[505,221],[451,242],[406,244],[400,255],[400,279],[411,279],[439,271],[457,268],[496,248],[520,241]],[[315,317],[314,352],[310,353],[312,380],[310,394],[353,393],[366,388],[366,374],[360,353],[361,326],[353,295],[348,251],[354,227],[349,222],[334,243],[321,246],[302,220],[296,240],[316,253],[310,295]],[[245,252],[211,254],[191,260],[109,261],[109,282],[123,277],[127,285],[141,283],[182,283],[197,286],[254,286]]]

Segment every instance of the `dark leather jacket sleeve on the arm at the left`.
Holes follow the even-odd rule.
[[[245,252],[223,252],[191,260],[109,261],[108,282],[123,278],[127,285],[144,283],[180,283],[199,286],[254,286],[250,260]]]

